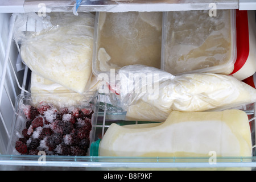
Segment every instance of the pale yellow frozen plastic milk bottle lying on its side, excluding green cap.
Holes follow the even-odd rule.
[[[110,125],[99,156],[251,156],[250,126],[241,110],[172,111],[166,121],[137,126]],[[150,126],[152,125],[152,126]]]

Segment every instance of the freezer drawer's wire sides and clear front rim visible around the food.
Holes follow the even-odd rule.
[[[17,60],[20,60],[18,56],[18,46],[13,41],[13,24],[9,14],[3,15],[3,22],[6,26],[3,26],[1,32],[1,67],[2,67],[2,79],[1,79],[1,115],[0,115],[0,162],[1,168],[13,167],[14,169],[35,169],[40,167],[56,167],[56,168],[72,168],[72,167],[87,167],[86,169],[139,169],[139,168],[168,168],[168,169],[181,169],[189,167],[210,167],[209,158],[112,158],[112,157],[96,157],[96,156],[47,156],[43,166],[38,161],[40,156],[24,156],[24,155],[8,155],[7,145],[12,139],[11,130],[14,127],[11,126],[13,121],[13,115],[15,114],[15,100],[19,93],[27,93],[30,84],[30,71],[27,67],[16,71],[15,64]],[[10,23],[9,23],[10,20]],[[3,41],[6,39],[6,41]],[[10,53],[11,52],[11,53]],[[18,57],[18,59],[17,59]],[[22,65],[22,64],[21,64]],[[254,105],[241,106],[242,110],[245,110],[250,117],[250,126],[253,145],[255,145],[254,135]],[[97,115],[97,123],[93,124],[92,141],[96,141],[98,138],[102,138],[105,131],[108,129],[110,123],[117,122],[119,125],[126,125],[140,123],[137,121],[124,121],[125,113],[108,113],[105,110],[100,110]],[[94,133],[95,132],[95,133]],[[217,159],[218,160],[218,159]],[[256,167],[255,164],[255,151],[253,150],[253,156],[251,158],[220,158],[215,168],[222,167]],[[40,166],[41,165],[41,166]]]

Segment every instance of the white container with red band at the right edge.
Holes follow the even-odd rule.
[[[231,73],[244,80],[256,72],[256,22],[254,11],[236,11],[237,60]]]

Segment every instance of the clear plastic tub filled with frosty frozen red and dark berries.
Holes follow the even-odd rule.
[[[85,156],[90,146],[97,94],[23,93],[15,103],[10,155]]]

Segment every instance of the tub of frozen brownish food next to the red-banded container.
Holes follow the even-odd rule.
[[[230,74],[236,61],[234,10],[164,13],[162,69],[173,75],[210,72]]]

